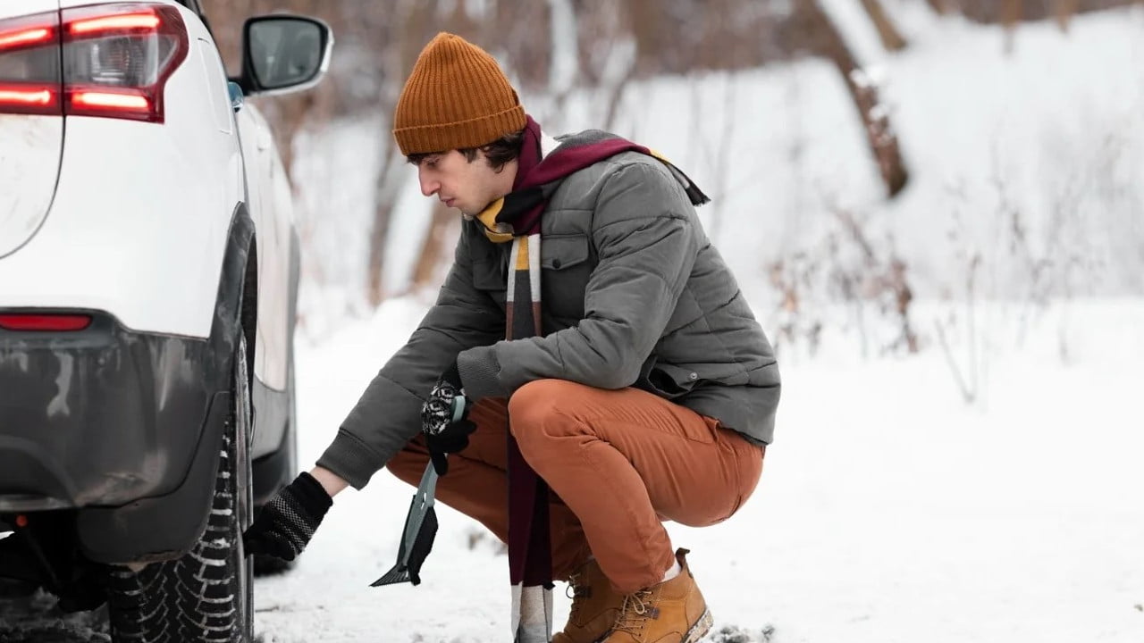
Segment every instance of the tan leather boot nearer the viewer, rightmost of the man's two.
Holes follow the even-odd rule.
[[[712,613],[688,567],[686,549],[675,558],[683,570],[672,580],[623,597],[604,643],[696,643],[712,628]]]

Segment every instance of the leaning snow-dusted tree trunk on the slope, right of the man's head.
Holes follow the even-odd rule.
[[[866,140],[882,174],[887,193],[890,197],[897,196],[906,186],[909,174],[901,160],[897,134],[890,126],[890,114],[879,103],[877,87],[858,65],[850,48],[842,40],[842,34],[831,17],[818,6],[817,0],[799,0],[796,10],[800,13],[800,19],[807,25],[811,46],[828,57],[842,74],[850,98],[865,126]]]

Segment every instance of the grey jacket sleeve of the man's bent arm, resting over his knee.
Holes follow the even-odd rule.
[[[546,378],[605,389],[636,382],[688,283],[701,235],[682,186],[654,162],[612,173],[593,216],[599,261],[585,292],[585,319],[543,338],[462,352],[466,394],[507,396]]]

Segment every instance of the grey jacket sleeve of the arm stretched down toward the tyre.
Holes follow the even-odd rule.
[[[458,354],[505,336],[503,312],[472,285],[471,243],[472,236],[462,231],[436,303],[370,382],[318,459],[318,466],[356,489],[365,486],[421,430],[421,405]]]

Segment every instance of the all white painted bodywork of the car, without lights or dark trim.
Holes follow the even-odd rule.
[[[93,3],[61,0],[58,6]],[[53,152],[42,142],[58,135],[64,119],[0,114],[0,140],[6,145],[27,142],[0,151],[0,181],[21,185],[25,199],[17,208],[11,201],[18,197],[0,196],[0,308],[97,309],[134,331],[206,338],[227,232],[236,207],[246,203],[259,261],[252,366],[267,387],[285,390],[289,186],[265,119],[248,102],[237,114],[231,108],[225,70],[209,32],[192,11],[169,0],[162,3],[178,8],[190,42],[186,59],[165,88],[166,122],[70,116],[59,159],[58,145]],[[24,0],[15,3],[18,9],[5,5],[0,17],[37,13],[32,7],[38,6],[51,10],[57,2]],[[19,162],[6,160],[10,153],[18,154]],[[54,200],[50,188],[35,185],[54,178],[53,153],[59,159]],[[244,176],[251,177],[249,192]],[[27,203],[27,195],[37,198]],[[6,222],[9,212],[16,214]],[[5,248],[7,239],[21,235],[13,248]],[[16,247],[18,252],[3,256]]]

